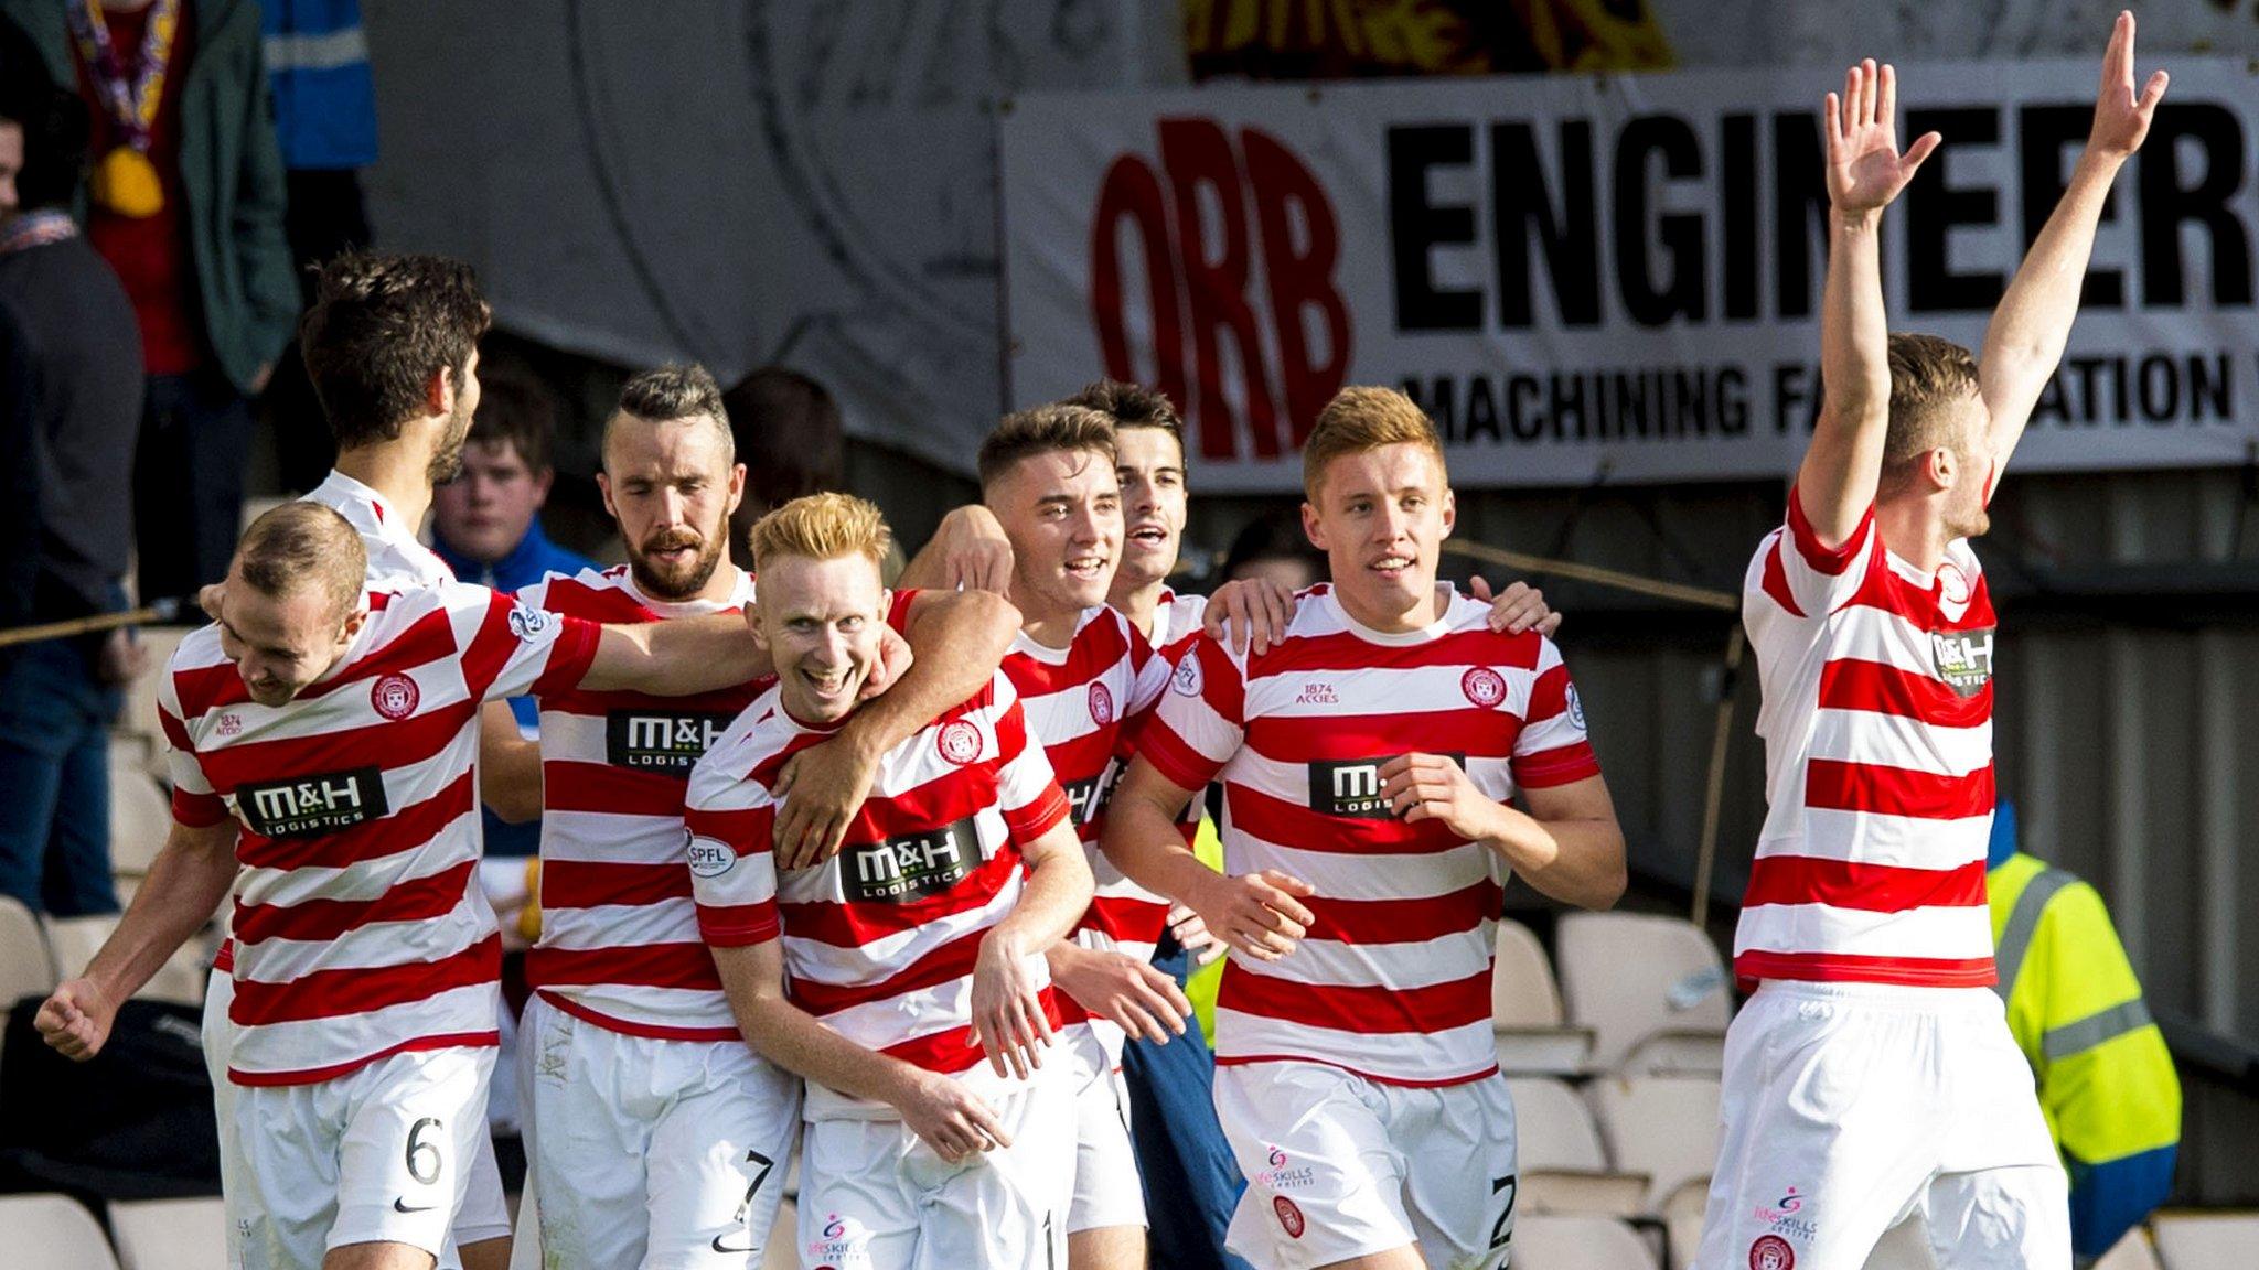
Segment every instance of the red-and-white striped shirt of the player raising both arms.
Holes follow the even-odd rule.
[[[1744,981],[1992,983],[1992,597],[1968,540],[1922,574],[1875,511],[1823,547],[1796,493],[1742,583],[1764,705]]]

